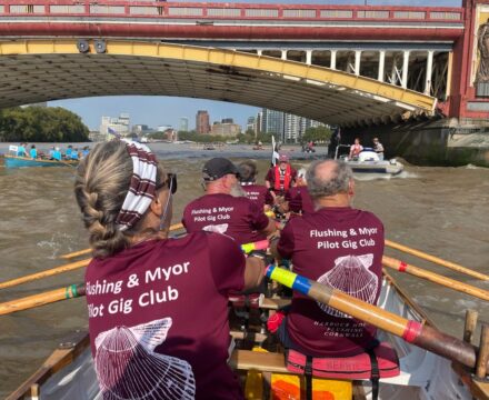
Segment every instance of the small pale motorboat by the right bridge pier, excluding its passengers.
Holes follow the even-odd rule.
[[[405,166],[396,159],[380,160],[379,156],[369,148],[365,148],[358,159],[349,159],[347,154],[338,156],[340,148],[350,148],[349,144],[337,146],[335,159],[346,161],[356,173],[379,173],[396,176],[405,170]]]

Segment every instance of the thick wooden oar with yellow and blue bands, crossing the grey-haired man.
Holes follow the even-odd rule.
[[[269,266],[267,277],[310,298],[366,321],[438,356],[476,367],[478,349],[418,321],[408,320],[288,270]],[[489,362],[488,362],[489,364]]]

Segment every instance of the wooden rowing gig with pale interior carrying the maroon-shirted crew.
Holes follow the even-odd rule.
[[[403,318],[433,326],[388,273],[385,273],[378,304]],[[265,309],[273,309],[273,306],[276,308],[283,306],[283,301],[265,299],[262,304]],[[489,399],[489,384],[472,380],[461,368],[455,368],[457,366],[452,366],[451,361],[389,333],[380,332],[379,339],[390,342],[397,350],[401,370],[400,376],[396,378],[380,380],[379,399],[463,400],[471,399],[472,396]],[[238,371],[258,369],[287,373],[283,357],[278,357],[277,353],[233,350],[229,362]],[[360,386],[362,390],[357,390],[355,399],[369,398],[370,381],[359,381],[356,386]],[[360,396],[359,392],[363,394]],[[88,333],[78,332],[74,338],[61,343],[41,368],[9,396],[8,400],[68,398],[70,400],[100,398]]]

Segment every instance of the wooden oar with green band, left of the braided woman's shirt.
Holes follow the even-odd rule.
[[[54,289],[39,294],[28,296],[21,299],[0,303],[0,316],[53,303],[60,300],[73,299],[84,294],[86,292],[83,283],[70,284],[66,288]]]

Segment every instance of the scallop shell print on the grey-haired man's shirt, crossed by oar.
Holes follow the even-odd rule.
[[[335,267],[318,279],[319,283],[341,290],[357,299],[373,303],[379,288],[379,278],[369,270],[373,263],[373,254],[346,256],[335,260]],[[351,318],[341,311],[318,302],[326,313]]]

